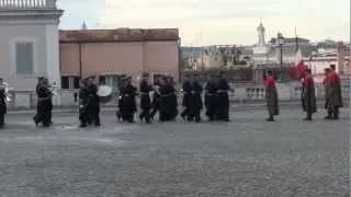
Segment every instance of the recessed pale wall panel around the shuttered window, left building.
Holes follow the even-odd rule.
[[[15,90],[33,90],[38,76],[46,76],[46,26],[44,24],[0,25],[0,77]],[[34,73],[15,74],[14,42],[34,42]]]

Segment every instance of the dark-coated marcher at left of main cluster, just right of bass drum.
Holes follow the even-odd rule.
[[[127,79],[127,83],[122,91],[122,119],[134,123],[134,113],[136,112],[136,88],[132,84],[132,78]]]

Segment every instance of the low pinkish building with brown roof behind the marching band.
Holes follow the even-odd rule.
[[[179,79],[178,28],[60,31],[59,43],[63,89],[78,88],[79,79],[89,76],[113,88],[124,74]]]

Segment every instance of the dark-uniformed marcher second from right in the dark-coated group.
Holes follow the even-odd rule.
[[[210,121],[216,119],[217,105],[217,83],[215,78],[212,76],[205,85],[206,116],[208,117]]]

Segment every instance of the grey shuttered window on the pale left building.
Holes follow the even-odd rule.
[[[33,43],[15,44],[15,72],[16,74],[33,74],[34,53]]]

